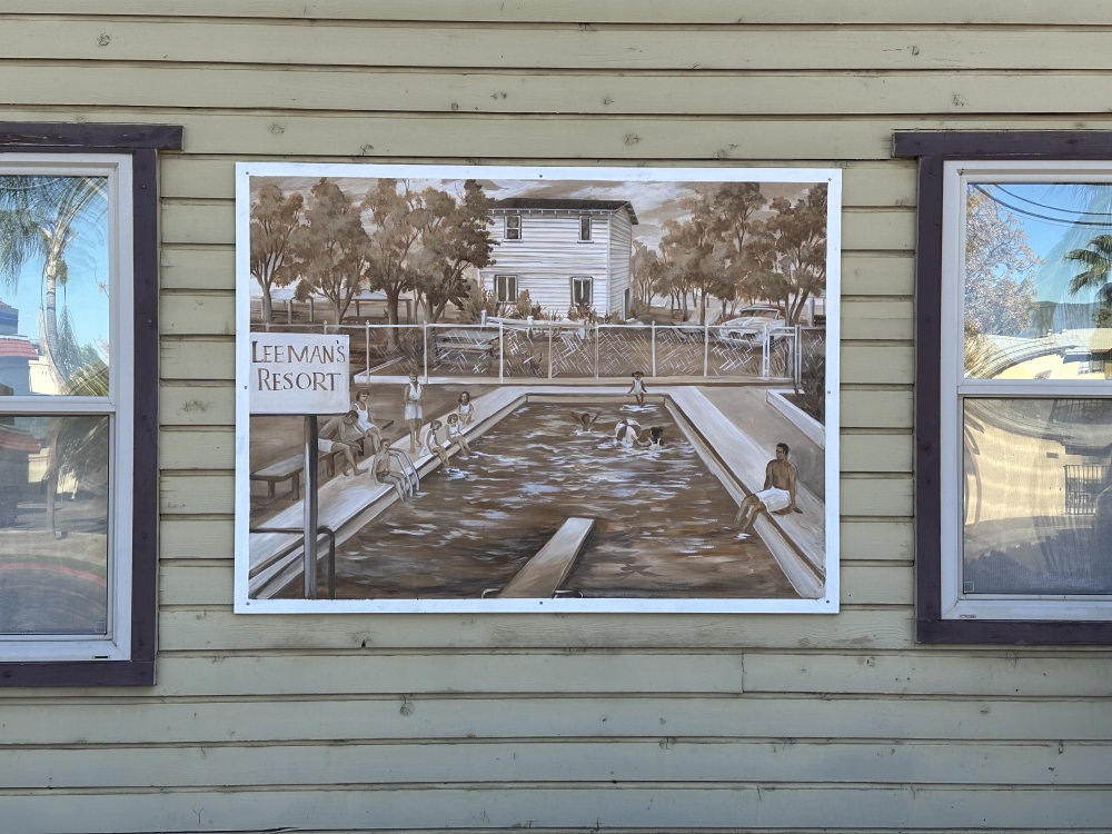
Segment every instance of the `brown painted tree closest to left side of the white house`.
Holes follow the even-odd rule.
[[[434,188],[421,191],[413,212],[419,237],[407,268],[428,321],[438,321],[448,304],[461,307],[468,295],[467,270],[492,262],[490,202],[475,180],[464,182],[458,201]]]

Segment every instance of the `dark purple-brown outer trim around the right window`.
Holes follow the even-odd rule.
[[[920,643],[1112,643],[1112,623],[942,619],[939,379],[942,310],[943,162],[1112,160],[1112,132],[932,131],[896,133],[895,157],[919,158],[915,279],[915,636]]]

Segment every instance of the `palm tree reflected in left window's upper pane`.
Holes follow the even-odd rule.
[[[47,353],[58,360],[58,285],[68,277],[66,247],[88,210],[107,209],[107,179],[47,175],[0,177],[0,278],[13,286],[32,257],[42,264],[42,329]]]

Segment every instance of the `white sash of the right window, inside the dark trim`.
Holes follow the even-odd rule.
[[[964,401],[972,398],[1109,397],[1106,380],[965,377],[965,229],[969,183],[1108,182],[1112,162],[945,161],[942,176],[940,375],[941,618],[1102,622],[1112,597],[1086,594],[966,594],[963,589]],[[947,509],[949,508],[949,509]]]

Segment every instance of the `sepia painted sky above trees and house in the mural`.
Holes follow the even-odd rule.
[[[329,177],[349,197],[361,200],[375,178]],[[267,182],[275,182],[285,193],[302,191],[308,195],[319,177],[251,177],[251,198]],[[679,208],[679,200],[695,193],[696,188],[716,188],[716,182],[678,182],[653,180],[644,182],[617,182],[609,180],[524,180],[524,179],[479,179],[487,196],[495,200],[510,197],[536,197],[545,199],[578,200],[626,200],[637,215],[634,239],[655,249],[661,241],[664,222],[668,219],[683,220],[686,214]],[[409,188],[420,191],[433,187],[447,191],[457,198],[463,196],[460,179],[409,179]],[[771,201],[775,197],[798,199],[811,187],[810,182],[762,182],[761,191]]]

